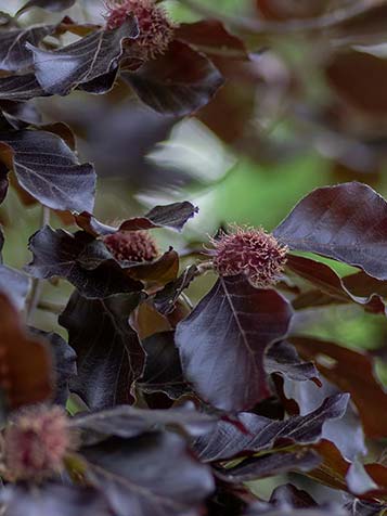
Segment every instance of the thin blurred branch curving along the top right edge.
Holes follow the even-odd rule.
[[[230,27],[244,33],[251,34],[292,34],[311,30],[323,30],[333,28],[344,22],[349,22],[357,16],[366,13],[371,9],[387,4],[386,0],[358,0],[351,5],[336,9],[314,18],[289,20],[286,22],[272,22],[269,20],[251,20],[242,16],[228,16],[208,9],[197,2],[197,0],[179,0],[192,11],[206,17],[218,18],[227,23]]]

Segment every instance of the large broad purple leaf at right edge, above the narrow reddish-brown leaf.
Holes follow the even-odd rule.
[[[387,203],[366,184],[317,189],[275,229],[291,249],[317,253],[387,280]]]

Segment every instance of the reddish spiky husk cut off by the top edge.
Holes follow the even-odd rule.
[[[130,55],[149,61],[164,54],[173,39],[176,25],[154,0],[107,0],[106,27],[120,27],[129,15],[139,24],[139,37],[130,43]]]

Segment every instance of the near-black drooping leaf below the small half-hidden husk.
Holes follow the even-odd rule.
[[[77,353],[78,375],[70,383],[91,409],[106,409],[133,401],[133,383],[141,376],[145,353],[129,315],[141,294],[90,300],[70,297],[60,324]]]

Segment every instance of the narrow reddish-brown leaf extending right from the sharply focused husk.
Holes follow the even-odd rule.
[[[339,302],[357,302],[374,313],[385,313],[386,307],[380,296],[371,292],[369,295],[356,296],[346,287],[331,267],[302,256],[288,256],[286,267],[300,278],[317,286],[320,292],[332,296]],[[369,278],[364,274],[365,278]],[[370,279],[372,281],[372,279]],[[318,297],[318,296],[317,296]],[[317,301],[318,302],[318,301]]]

